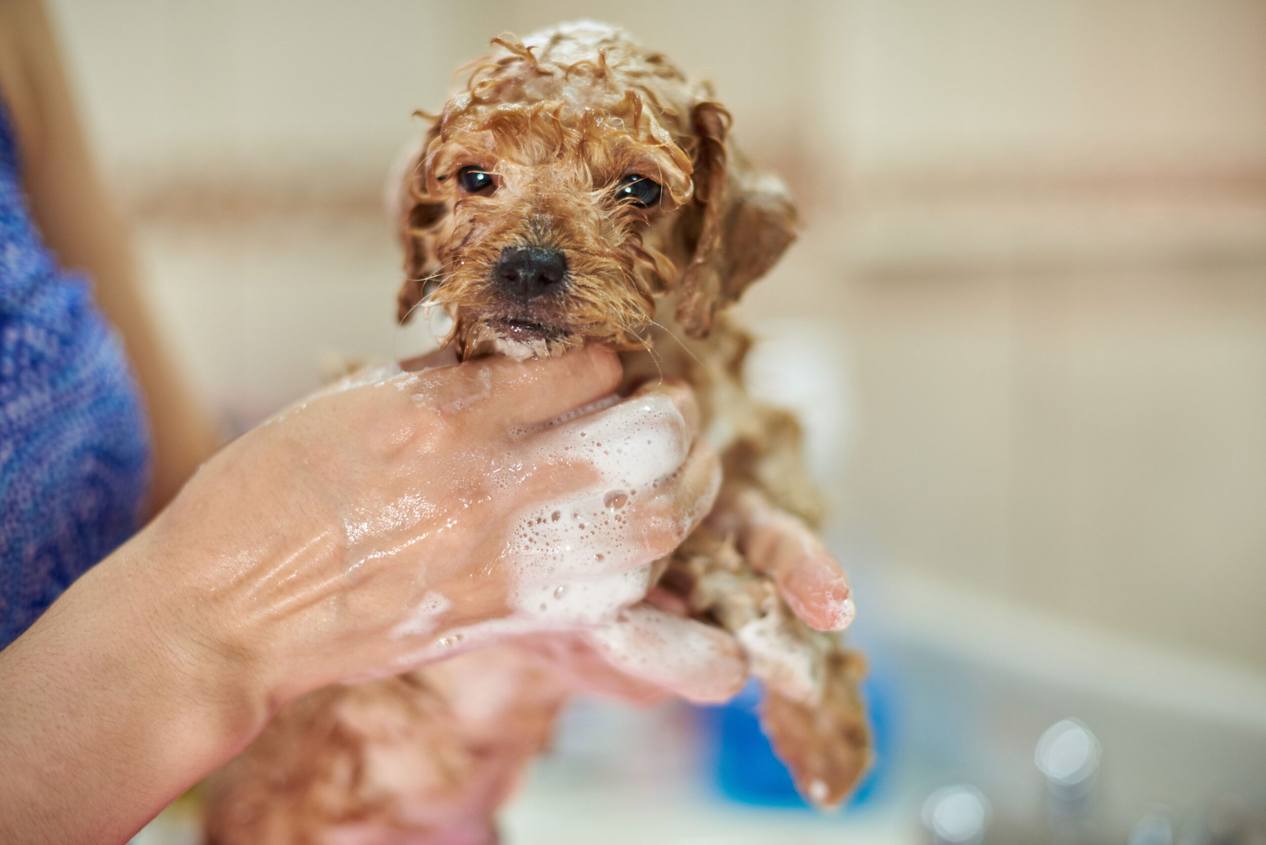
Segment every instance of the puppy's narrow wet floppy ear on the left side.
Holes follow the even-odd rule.
[[[394,170],[396,229],[404,245],[404,285],[396,295],[396,319],[404,323],[425,296],[425,286],[439,271],[434,229],[448,214],[448,205],[427,191],[427,151],[439,135],[432,126],[422,144],[401,158]]]

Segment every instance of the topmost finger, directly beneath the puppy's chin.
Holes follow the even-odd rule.
[[[419,402],[442,411],[468,411],[472,419],[530,428],[608,396],[622,376],[615,353],[591,344],[543,361],[495,357],[434,366],[401,385],[411,388]]]

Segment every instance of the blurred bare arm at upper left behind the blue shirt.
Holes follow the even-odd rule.
[[[0,94],[18,130],[23,183],[46,243],[63,267],[91,276],[101,310],[123,335],[149,411],[158,510],[220,438],[157,331],[127,226],[89,153],[39,0],[0,3]]]

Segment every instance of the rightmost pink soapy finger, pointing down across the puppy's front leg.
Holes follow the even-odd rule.
[[[848,576],[801,520],[744,491],[717,515],[757,572],[774,577],[796,616],[819,631],[842,631],[856,616]]]

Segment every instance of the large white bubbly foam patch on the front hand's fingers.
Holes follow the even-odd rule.
[[[685,536],[711,507],[720,471],[696,501],[665,492],[691,443],[676,405],[649,393],[537,430],[529,455],[489,478],[495,491],[537,468],[577,464],[594,474],[580,492],[538,502],[513,520],[496,568],[510,574],[509,614],[447,631],[401,665],[451,657],[542,630],[599,627],[643,598],[666,540]],[[504,478],[504,481],[503,481]]]

